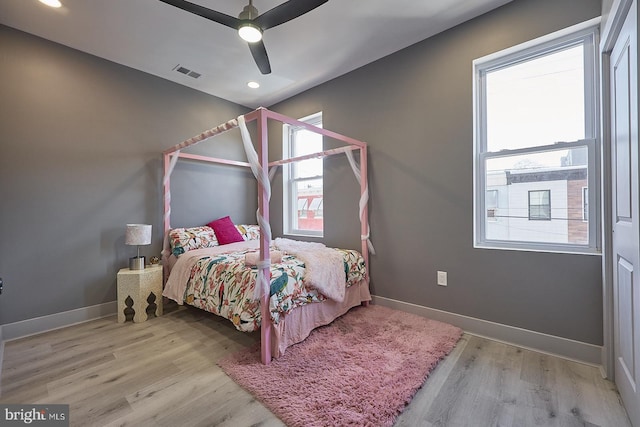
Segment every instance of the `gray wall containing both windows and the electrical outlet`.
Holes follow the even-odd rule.
[[[322,110],[326,128],[370,144],[375,294],[602,343],[599,256],[473,248],[471,64],[600,12],[598,0],[515,0],[273,107],[293,117]],[[350,172],[332,167],[327,215],[356,203],[341,185]],[[327,243],[357,247],[357,220],[326,222]],[[436,285],[437,270],[448,287]]]

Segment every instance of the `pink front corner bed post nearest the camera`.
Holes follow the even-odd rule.
[[[258,135],[260,138],[258,144],[258,158],[260,166],[264,170],[269,168],[269,153],[268,153],[268,132],[267,132],[267,114],[262,108],[257,110],[258,112]],[[268,185],[268,184],[267,184]],[[269,196],[267,190],[258,180],[258,212],[259,215],[264,218],[265,222],[269,223]],[[269,236],[260,228],[260,260],[269,260],[269,245],[271,244]],[[269,294],[271,283],[271,269],[263,268],[259,270],[258,274],[263,275],[262,283],[264,287],[262,289],[262,295],[260,297],[260,312],[262,320],[260,322],[260,357],[262,363],[268,365],[271,363],[271,313],[269,312]]]

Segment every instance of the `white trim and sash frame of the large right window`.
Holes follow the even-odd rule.
[[[517,46],[478,58],[473,61],[473,240],[474,248],[499,249],[499,250],[522,250],[533,252],[559,252],[559,253],[579,253],[588,255],[601,254],[601,170],[600,158],[601,148],[599,143],[599,72],[598,72],[598,27],[600,18],[574,25],[572,27],[557,31],[552,34],[522,43]],[[526,154],[528,152],[543,151],[545,147],[531,147],[517,150],[502,150],[497,153],[486,151],[486,129],[484,127],[484,113],[481,103],[485,99],[484,84],[482,82],[481,71],[499,69],[500,67],[515,64],[524,59],[530,59],[536,53],[547,54],[556,49],[567,47],[572,41],[582,40],[592,37],[593,49],[591,55],[586,55],[585,70],[588,68],[591,73],[585,73],[585,78],[592,90],[587,91],[585,99],[585,132],[587,139],[583,141],[558,143],[549,146],[549,149],[559,149],[563,145],[567,148],[574,146],[586,146],[588,149],[588,186],[589,186],[589,243],[579,244],[557,244],[539,242],[517,242],[502,240],[487,240],[485,234],[484,216],[486,206],[484,192],[486,190],[484,165],[486,159],[493,156],[504,156],[506,154]],[[561,45],[561,46],[560,46]],[[596,99],[590,99],[593,94]],[[590,108],[589,108],[590,107]]]

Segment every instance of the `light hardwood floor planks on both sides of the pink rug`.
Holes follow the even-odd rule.
[[[10,341],[0,403],[67,403],[73,426],[282,426],[216,365],[258,338],[182,307]],[[597,368],[465,334],[396,426],[630,424]]]

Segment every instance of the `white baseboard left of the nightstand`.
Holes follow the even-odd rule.
[[[117,311],[117,301],[77,308],[75,310],[63,311],[62,313],[49,314],[47,316],[21,320],[15,323],[7,323],[2,325],[2,335],[4,341],[11,341],[28,337],[29,335],[75,325],[76,323],[111,316]]]

